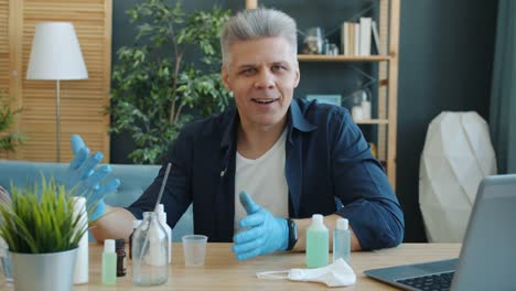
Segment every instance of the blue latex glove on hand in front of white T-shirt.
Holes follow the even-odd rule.
[[[247,212],[239,226],[248,227],[233,237],[232,250],[238,260],[286,250],[289,244],[289,227],[286,218],[275,217],[256,204],[249,194],[240,192],[240,203]]]

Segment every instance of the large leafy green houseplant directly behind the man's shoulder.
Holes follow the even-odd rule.
[[[159,163],[186,122],[229,103],[219,76],[218,39],[229,11],[214,8],[187,14],[179,1],[169,6],[164,0],[143,0],[128,14],[136,40],[117,52],[110,130],[130,133],[136,150],[129,158],[135,163]],[[197,62],[189,62],[186,55]]]

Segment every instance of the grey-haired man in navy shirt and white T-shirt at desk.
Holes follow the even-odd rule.
[[[176,139],[165,161],[168,224],[193,203],[195,233],[233,240],[237,259],[304,250],[315,213],[330,229],[348,218],[353,250],[398,245],[400,206],[347,110],[292,100],[300,79],[295,22],[277,10],[240,12],[225,24],[222,50],[236,109],[191,123]],[[131,206],[99,219],[94,236],[128,237],[130,222],[152,211],[163,175],[164,166]]]

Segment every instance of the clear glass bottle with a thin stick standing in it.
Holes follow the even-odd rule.
[[[132,282],[158,285],[169,278],[169,239],[154,212],[143,213],[143,220],[132,237]]]

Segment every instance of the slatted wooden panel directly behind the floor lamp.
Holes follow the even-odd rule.
[[[19,128],[30,138],[19,148],[15,159],[56,159],[55,80],[28,80],[25,75],[35,24],[43,21],[66,21],[75,26],[88,79],[61,80],[61,161],[72,159],[69,137],[73,133],[79,133],[93,151],[103,151],[105,161],[109,161],[109,116],[104,115],[104,108],[109,105],[111,1],[23,0],[19,11],[14,14],[11,12],[11,18],[17,14],[22,18],[19,52],[22,74],[18,77],[22,90],[17,98],[23,105]],[[0,31],[1,29],[0,23]]]

